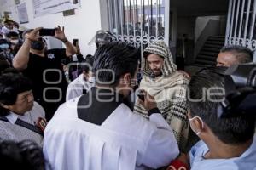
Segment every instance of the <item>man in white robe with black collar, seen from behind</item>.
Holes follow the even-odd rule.
[[[139,52],[111,42],[96,50],[96,88],[61,105],[44,133],[44,156],[56,170],[131,170],[168,165],[179,153],[154,97],[142,105],[149,120],[125,102],[135,85]]]

